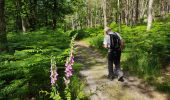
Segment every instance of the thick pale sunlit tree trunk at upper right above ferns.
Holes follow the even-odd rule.
[[[152,5],[153,5],[153,0],[149,0],[149,6],[148,6],[148,24],[147,24],[147,30],[151,29],[152,26]]]

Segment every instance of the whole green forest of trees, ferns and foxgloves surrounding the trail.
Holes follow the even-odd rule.
[[[123,70],[170,98],[169,0],[0,0],[0,99],[88,99],[75,41],[106,57],[106,26],[125,41]]]

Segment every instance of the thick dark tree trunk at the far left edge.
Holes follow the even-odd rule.
[[[0,52],[8,50],[4,10],[5,0],[0,0]]]

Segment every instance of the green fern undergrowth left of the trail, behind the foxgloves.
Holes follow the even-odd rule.
[[[50,59],[56,57],[59,77],[63,80],[65,60],[69,55],[70,37],[62,30],[8,33],[9,53],[0,54],[0,99],[45,99],[41,90],[50,91]],[[80,64],[75,64],[75,70]],[[59,81],[62,91],[64,82]],[[72,78],[71,92],[82,95],[83,83],[78,75]],[[63,93],[64,94],[64,93]]]

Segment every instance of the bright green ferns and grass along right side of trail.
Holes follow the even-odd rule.
[[[170,59],[170,23],[155,22],[151,31],[146,26],[128,27],[122,25],[121,36],[125,40],[126,49],[123,51],[123,68],[146,77],[159,74],[160,68],[168,67]],[[118,25],[110,25],[114,32],[118,32]],[[91,46],[100,51],[106,50],[103,45],[103,29],[86,29]]]

